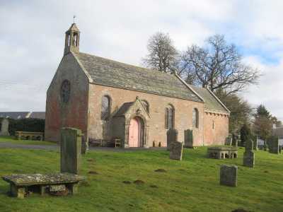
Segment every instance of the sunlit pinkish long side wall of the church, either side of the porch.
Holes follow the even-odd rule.
[[[200,112],[199,128],[194,131],[195,146],[202,146],[203,143],[203,114],[204,104],[202,102],[192,102],[189,100],[181,100],[177,98],[164,97],[149,93],[141,93],[134,90],[125,90],[120,88],[112,88],[107,86],[98,86],[90,84],[88,96],[88,137],[103,138],[105,140],[112,139],[112,119],[109,121],[100,120],[101,99],[103,95],[109,95],[112,102],[111,114],[122,106],[125,102],[134,102],[137,96],[140,100],[149,102],[149,146],[161,142],[161,146],[166,146],[166,129],[165,129],[165,108],[169,104],[175,109],[175,129],[179,131],[178,141],[184,141],[184,131],[192,129],[192,110],[197,108]]]

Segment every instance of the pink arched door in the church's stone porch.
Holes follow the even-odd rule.
[[[129,147],[144,146],[144,122],[139,117],[134,117],[129,122]]]

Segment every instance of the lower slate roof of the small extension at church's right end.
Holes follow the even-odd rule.
[[[204,109],[214,112],[229,112],[221,103],[209,92],[207,88],[201,88],[198,86],[192,86],[193,90],[197,92],[204,99]]]

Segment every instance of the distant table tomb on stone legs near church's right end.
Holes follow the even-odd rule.
[[[230,146],[212,146],[207,148],[208,158],[225,159],[238,158],[238,148]]]

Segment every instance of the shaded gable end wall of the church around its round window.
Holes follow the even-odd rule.
[[[71,83],[69,102],[62,102],[62,82]],[[88,78],[72,54],[62,59],[47,90],[45,140],[59,141],[62,127],[75,127],[86,134],[88,112]]]

